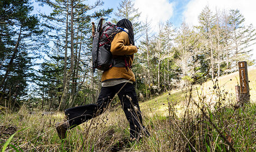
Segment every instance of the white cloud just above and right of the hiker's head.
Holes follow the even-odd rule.
[[[152,20],[152,26],[156,27],[158,22],[166,22],[173,15],[173,3],[168,0],[134,0],[135,8],[141,12],[141,20],[146,17]]]

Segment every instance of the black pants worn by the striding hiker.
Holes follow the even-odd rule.
[[[141,129],[144,127],[142,126],[141,110],[139,110],[135,88],[132,83],[120,83],[112,87],[102,87],[97,104],[78,106],[65,110],[69,126],[72,128],[80,125],[103,113],[116,93],[118,93],[121,106],[130,123],[130,136],[138,138]]]

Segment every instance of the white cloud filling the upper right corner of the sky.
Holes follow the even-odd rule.
[[[192,25],[198,25],[197,17],[206,5],[209,6],[213,13],[216,11],[216,8],[219,10],[238,9],[245,17],[245,25],[252,23],[256,28],[255,0],[191,0],[183,12],[185,22],[191,23]],[[253,54],[254,58],[256,58],[256,45],[254,45]]]

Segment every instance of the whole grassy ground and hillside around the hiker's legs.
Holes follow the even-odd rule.
[[[253,101],[255,74],[255,68],[249,69]],[[129,141],[129,124],[120,106],[70,130],[64,141],[55,131],[55,123],[63,120],[62,112],[31,112],[23,106],[19,112],[4,110],[0,114],[0,147],[25,129],[14,135],[5,151],[255,151],[256,104],[232,104],[237,75],[218,78],[225,102],[218,101],[211,81],[194,86],[190,100],[185,89],[141,102],[143,124],[150,132],[149,137],[142,134],[141,141]],[[196,96],[196,88],[202,94]]]

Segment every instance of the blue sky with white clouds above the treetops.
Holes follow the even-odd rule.
[[[34,1],[34,0],[33,0]],[[88,0],[89,4],[94,4],[96,0]],[[141,21],[144,22],[148,17],[151,20],[153,29],[157,30],[159,22],[170,20],[175,27],[179,27],[183,21],[189,25],[198,25],[198,15],[202,9],[208,7],[214,12],[219,10],[238,9],[245,17],[245,25],[253,24],[256,28],[256,0],[132,0],[135,8],[141,12]],[[121,0],[103,0],[104,5],[98,9],[113,8],[117,12],[117,7]],[[49,13],[49,8],[39,8],[34,3],[34,10]],[[112,13],[111,17],[114,17]],[[256,59],[256,45],[253,46],[253,59]]]

